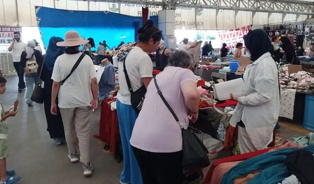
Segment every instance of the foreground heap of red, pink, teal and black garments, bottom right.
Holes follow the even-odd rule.
[[[313,145],[287,142],[278,148],[223,158],[213,163],[204,184],[313,184],[313,154]]]

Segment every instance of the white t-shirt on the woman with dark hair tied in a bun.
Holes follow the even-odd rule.
[[[139,47],[133,47],[126,57],[126,69],[130,78],[131,87],[136,91],[143,82],[141,78],[153,77],[153,62],[149,55]],[[131,105],[131,93],[123,72],[123,62],[119,62],[119,84],[117,98],[122,104]]]

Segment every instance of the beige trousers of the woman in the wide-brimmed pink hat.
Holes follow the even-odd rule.
[[[60,112],[69,153],[77,153],[79,148],[80,162],[88,163],[90,161],[90,107],[60,108]]]

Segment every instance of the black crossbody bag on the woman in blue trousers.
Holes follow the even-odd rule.
[[[133,91],[125,63],[126,63],[126,60],[124,60],[124,62],[123,62],[123,71],[124,71],[124,74],[126,76],[129,91],[131,93],[131,105],[134,108],[134,110],[137,113],[139,113],[142,109],[144,99],[145,99],[145,94],[146,94],[147,90],[146,90],[146,87],[143,85],[142,87],[140,87],[136,91]]]

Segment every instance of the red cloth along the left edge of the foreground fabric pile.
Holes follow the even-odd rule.
[[[233,162],[233,161],[241,161],[241,160],[246,160],[246,159],[249,159],[249,158],[253,158],[253,157],[256,157],[256,156],[259,156],[259,155],[262,155],[262,154],[268,152],[270,149],[272,149],[272,148],[267,148],[267,149],[264,149],[264,150],[258,150],[258,151],[255,151],[255,152],[241,154],[241,155],[235,155],[235,156],[227,157],[227,158],[221,158],[221,159],[215,161],[210,166],[209,171],[208,171],[208,173],[206,175],[206,178],[205,178],[203,184],[209,184],[210,183],[210,180],[211,180],[211,177],[212,177],[212,173],[213,173],[214,169],[219,164],[226,163],[226,162]]]

